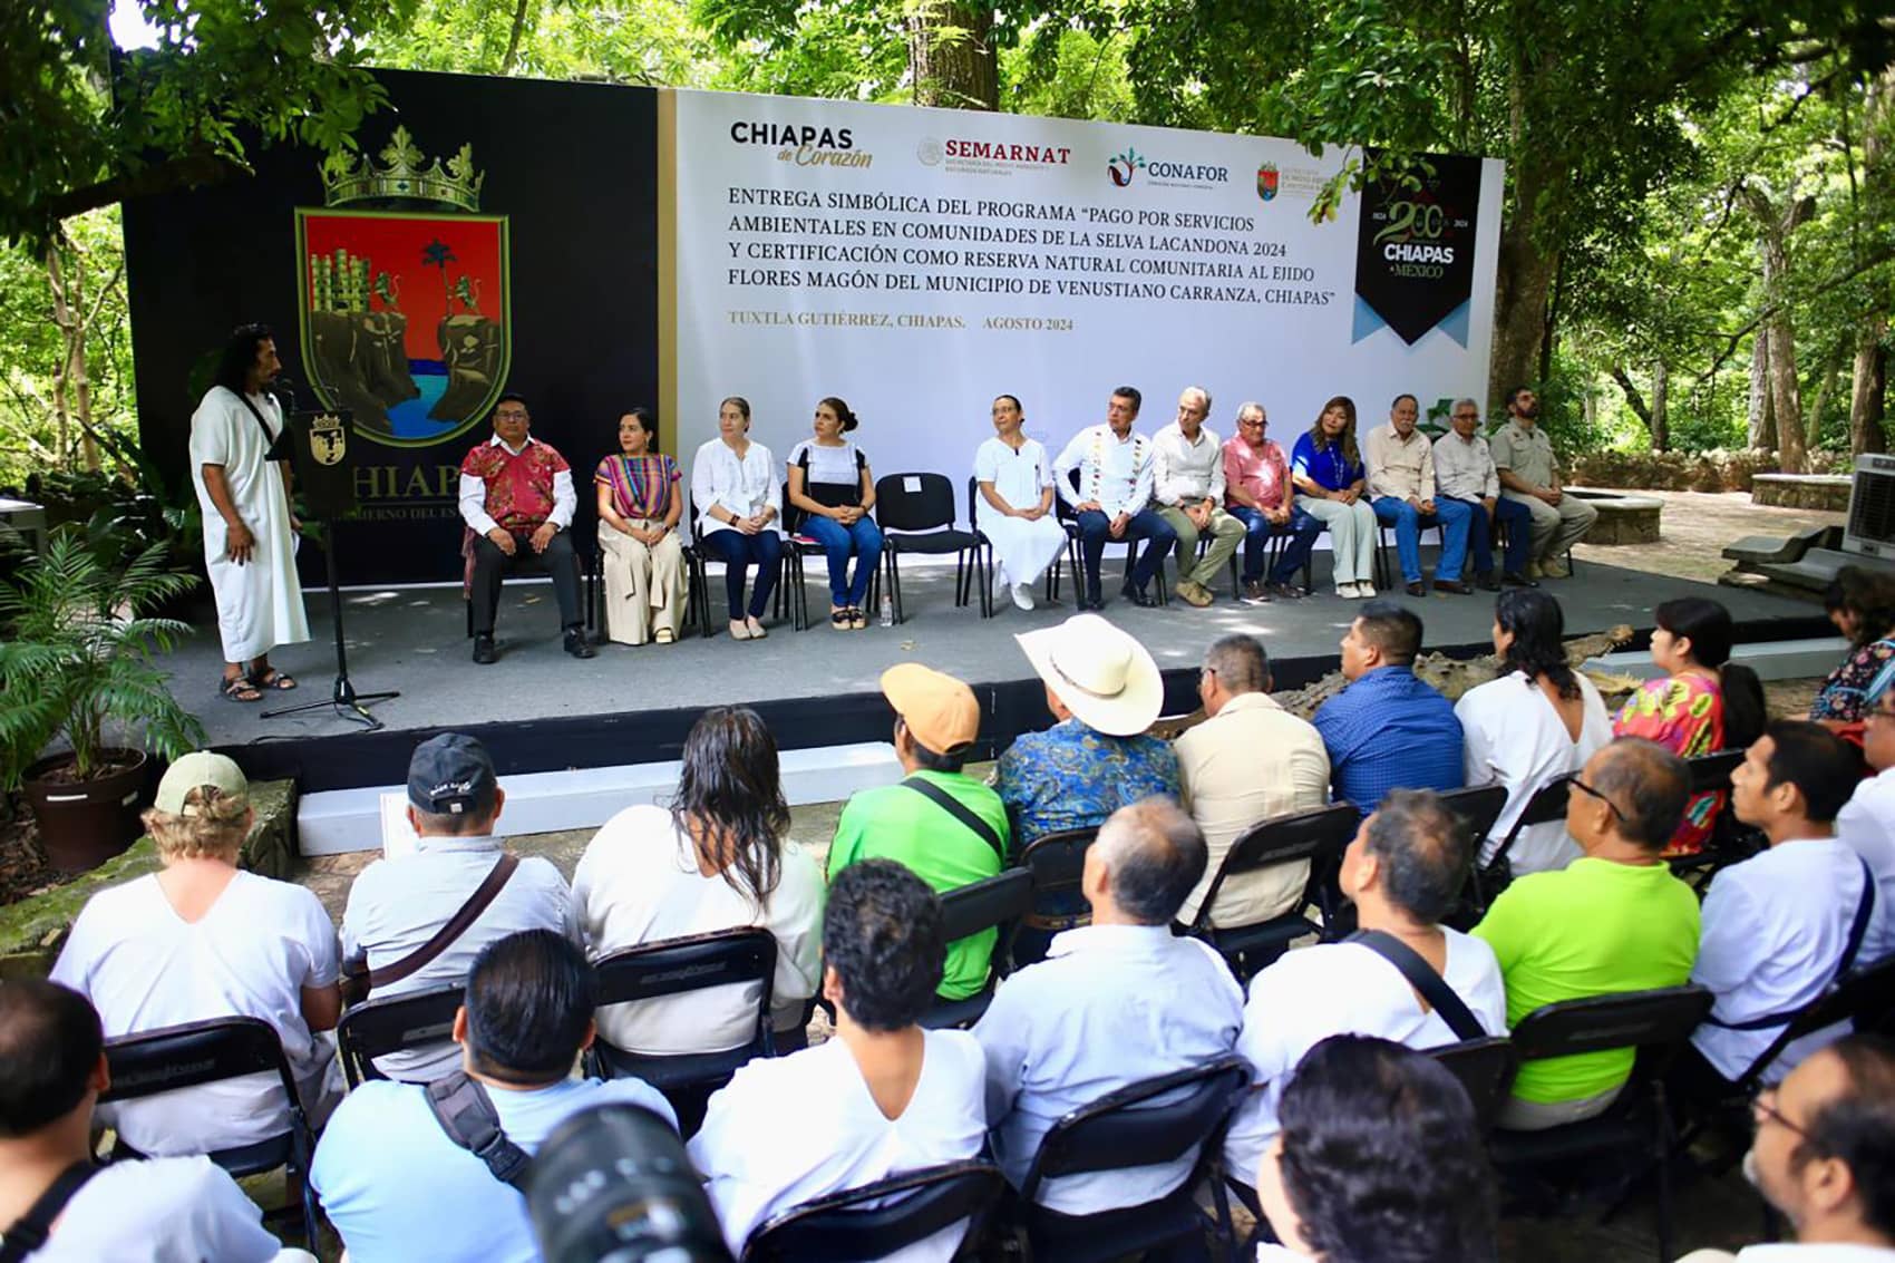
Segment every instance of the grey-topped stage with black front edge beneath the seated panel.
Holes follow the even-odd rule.
[[[1107,573],[1112,573],[1107,558]],[[1319,561],[1319,571],[1325,569]],[[1270,649],[1277,688],[1294,688],[1334,669],[1338,641],[1359,601],[1330,594],[1302,601],[1241,605],[1220,599],[1192,609],[1175,599],[1162,609],[1112,601],[1107,616],[1135,633],[1165,671],[1165,711],[1196,709],[1196,668],[1213,639],[1230,632],[1260,635]],[[713,603],[722,607],[722,580],[713,571]],[[1109,592],[1116,584],[1109,582]],[[1548,580],[1565,607],[1567,633],[1584,635],[1615,624],[1647,632],[1658,601],[1687,592],[1723,601],[1742,641],[1831,635],[1819,607],[1776,595],[1692,584],[1582,561],[1579,575]],[[982,755],[1002,749],[1014,734],[1048,723],[1042,690],[1014,643],[1014,633],[1044,628],[1073,613],[1071,586],[1061,605],[1033,613],[1002,597],[993,618],[976,605],[953,605],[953,571],[910,561],[902,567],[908,620],[874,622],[864,632],[834,632],[817,622],[792,632],[771,624],[764,641],[688,633],[677,645],[599,645],[599,656],[574,660],[559,643],[551,588],[510,582],[500,601],[500,662],[474,666],[460,588],[387,588],[343,592],[349,669],[356,690],[398,688],[373,713],[387,724],[366,732],[328,705],[305,715],[263,719],[275,705],[330,696],[335,675],[328,594],[305,594],[313,639],[271,656],[301,688],[267,694],[262,704],[226,702],[216,688],[220,647],[214,626],[201,626],[163,660],[172,690],[205,724],[210,743],[235,757],[254,778],[296,778],[303,793],[400,781],[415,741],[445,730],[481,736],[502,774],[597,768],[677,759],[697,713],[716,704],[758,707],[786,749],[883,741],[889,711],[877,675],[896,662],[925,662],[976,686],[987,721]],[[1427,626],[1425,647],[1450,654],[1486,652],[1493,597],[1399,595]],[[809,605],[826,613],[821,565],[811,567]]]

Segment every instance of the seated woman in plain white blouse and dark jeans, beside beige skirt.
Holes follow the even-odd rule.
[[[724,595],[730,599],[730,639],[760,641],[769,635],[762,616],[777,586],[783,561],[783,489],[769,448],[750,442],[750,400],[731,394],[716,408],[718,436],[692,459],[692,506],[707,552],[724,561]],[[756,565],[750,605],[743,582]]]

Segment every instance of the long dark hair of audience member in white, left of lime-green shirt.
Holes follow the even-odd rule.
[[[756,711],[713,705],[692,724],[671,823],[762,910],[783,872],[790,804],[777,776],[777,741]]]

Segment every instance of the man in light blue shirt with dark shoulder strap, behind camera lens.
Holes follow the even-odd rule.
[[[551,929],[481,948],[455,1015],[460,1068],[434,1085],[364,1083],[316,1145],[311,1183],[351,1263],[536,1263],[514,1180],[548,1132],[610,1104],[677,1126],[665,1098],[639,1079],[570,1077],[593,1041],[595,998],[586,956]]]

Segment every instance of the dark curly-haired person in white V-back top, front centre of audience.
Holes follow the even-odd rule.
[[[849,865],[822,922],[836,1034],[758,1058],[711,1098],[690,1144],[731,1254],[800,1202],[980,1155],[985,1058],[966,1032],[921,1030],[942,982],[940,899],[893,859]],[[902,1259],[946,1263],[949,1227]]]

